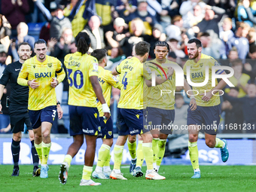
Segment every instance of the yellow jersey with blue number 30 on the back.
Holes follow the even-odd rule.
[[[70,53],[64,63],[69,81],[69,105],[96,108],[96,94],[90,82],[91,76],[99,75],[99,64],[87,53]]]

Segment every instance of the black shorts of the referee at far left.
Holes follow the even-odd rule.
[[[10,114],[11,132],[19,133],[24,131],[24,123],[28,130],[32,130],[31,121],[29,119],[29,112],[14,112]]]

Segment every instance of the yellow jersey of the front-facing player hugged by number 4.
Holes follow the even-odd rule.
[[[178,65],[176,62],[169,61],[168,59],[166,59],[166,62],[164,63]],[[146,62],[146,65],[148,66],[149,69],[151,69],[151,71],[154,71],[156,73],[156,76],[158,78],[165,78],[165,75],[168,72],[168,67],[162,66],[162,63],[157,62],[157,59]],[[175,89],[175,72],[173,72],[172,76],[169,77],[169,79],[165,81],[163,84],[159,84],[154,87],[149,87],[147,104],[148,107],[166,110],[174,109]],[[161,96],[161,90],[171,90],[172,93],[163,94]]]

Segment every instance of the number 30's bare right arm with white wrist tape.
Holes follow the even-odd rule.
[[[99,102],[102,103],[102,111],[104,112],[104,116],[107,118],[107,120],[110,117],[110,111],[108,108],[108,104],[105,102],[104,96],[102,94],[102,87],[99,84],[98,77],[97,76],[90,76],[90,82],[93,86],[93,90],[96,94],[97,99]]]

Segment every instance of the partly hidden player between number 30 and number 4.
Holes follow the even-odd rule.
[[[90,55],[94,56],[99,62],[98,81],[102,86],[103,96],[109,107],[112,86],[120,89],[122,84],[111,74],[110,71],[104,69],[108,62],[106,53],[107,51],[105,49],[96,49],[93,50],[93,53],[90,53]],[[113,122],[111,117],[109,117],[108,120],[103,117],[102,104],[99,101],[97,101],[97,108],[99,111],[99,120],[101,126],[98,138],[102,138],[103,143],[101,148],[99,148],[98,162],[92,176],[93,178],[106,179],[109,178],[111,174],[109,161],[111,159],[110,148],[113,145]]]

